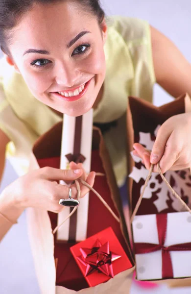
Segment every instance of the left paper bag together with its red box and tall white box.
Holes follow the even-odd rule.
[[[70,207],[59,214],[28,209],[41,293],[129,293],[134,261],[111,161],[100,130],[93,127],[93,110],[76,118],[64,115],[31,154],[31,168],[68,169],[71,161],[97,173],[94,189],[103,200],[90,190],[79,198],[72,216]]]

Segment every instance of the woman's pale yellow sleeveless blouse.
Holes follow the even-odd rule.
[[[120,186],[126,177],[125,119],[128,96],[152,101],[155,74],[149,24],[128,17],[109,18],[104,51],[104,93],[94,110],[94,122],[117,121],[104,133],[104,139]],[[2,58],[0,128],[11,140],[7,146],[7,158],[18,175],[27,172],[29,154],[37,138],[61,119],[32,96],[22,75]]]

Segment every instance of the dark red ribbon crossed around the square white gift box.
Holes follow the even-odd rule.
[[[162,250],[162,277],[163,279],[173,278],[170,251],[189,251],[191,250],[191,243],[177,244],[165,247],[165,239],[167,234],[167,214],[157,214],[156,221],[159,244],[135,243],[135,254],[150,253],[157,250]]]

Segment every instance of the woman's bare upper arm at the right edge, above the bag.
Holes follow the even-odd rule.
[[[191,64],[166,36],[150,29],[157,83],[175,98],[186,92],[191,96]]]

